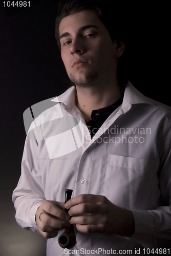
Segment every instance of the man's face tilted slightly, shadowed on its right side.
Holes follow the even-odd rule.
[[[77,86],[105,82],[116,73],[116,42],[112,42],[94,11],[84,10],[63,18],[59,36],[63,63]]]

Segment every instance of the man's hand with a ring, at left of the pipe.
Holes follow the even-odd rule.
[[[70,218],[65,212],[62,202],[45,200],[36,211],[38,231],[45,238],[54,238],[60,229],[69,228],[71,226],[68,222]]]

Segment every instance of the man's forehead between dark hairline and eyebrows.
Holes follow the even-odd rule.
[[[101,29],[105,28],[101,20],[98,18],[93,10],[83,10],[81,12],[66,16],[61,20],[59,24],[59,36],[62,33],[75,32],[80,27],[84,27],[87,25],[94,25]]]

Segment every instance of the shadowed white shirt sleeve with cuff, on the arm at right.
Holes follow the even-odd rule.
[[[160,159],[159,184],[163,205],[156,209],[131,209],[135,233],[130,238],[145,248],[171,248],[171,146]],[[158,247],[160,246],[160,247]]]

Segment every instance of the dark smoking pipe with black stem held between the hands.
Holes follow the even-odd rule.
[[[65,192],[65,203],[71,199],[72,189],[66,189]],[[68,213],[69,209],[65,208],[65,211]],[[67,228],[58,238],[58,244],[63,249],[71,249],[76,244],[76,237],[74,232],[74,226],[71,224],[70,228]]]

